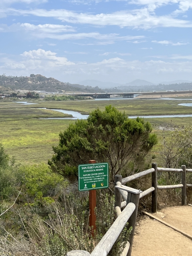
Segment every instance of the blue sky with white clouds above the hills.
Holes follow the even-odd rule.
[[[192,0],[0,0],[0,74],[192,80]]]

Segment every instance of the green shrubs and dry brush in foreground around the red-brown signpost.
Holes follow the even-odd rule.
[[[74,249],[91,252],[116,219],[114,196],[101,190],[97,195],[97,232],[92,237],[87,194],[82,196],[75,184],[68,186],[46,164],[15,166],[2,145],[0,160],[2,256],[65,256]],[[12,205],[14,197],[17,200]],[[130,231],[124,227],[109,256],[123,251]]]

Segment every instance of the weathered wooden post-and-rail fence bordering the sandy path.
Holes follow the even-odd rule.
[[[158,172],[181,172],[181,184],[158,186]],[[115,222],[103,236],[100,242],[96,245],[91,254],[86,251],[72,250],[68,252],[66,256],[107,256],[127,222],[128,228],[132,227],[132,232],[129,237],[129,242],[127,243],[124,251],[120,256],[131,256],[139,199],[149,193],[152,193],[152,212],[155,213],[157,212],[157,191],[159,189],[181,188],[182,205],[186,205],[186,188],[192,187],[192,184],[186,184],[186,172],[192,172],[192,169],[186,169],[185,165],[182,165],[181,169],[158,168],[157,164],[153,163],[151,169],[139,172],[123,179],[121,175],[116,175],[115,210],[118,217],[116,218]],[[124,186],[124,184],[126,184],[127,182],[143,177],[150,173],[152,174],[152,186],[144,192],[142,192],[141,190],[130,188],[128,186]],[[123,202],[122,198],[124,199]],[[121,211],[122,208],[124,208],[124,210]]]

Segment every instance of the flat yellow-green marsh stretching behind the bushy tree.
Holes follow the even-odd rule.
[[[185,100],[190,103],[191,100]],[[32,105],[18,102],[0,102],[0,136],[6,152],[15,156],[22,164],[47,162],[52,157],[52,146],[59,141],[59,132],[65,130],[75,120],[44,120],[41,118],[70,118],[57,110],[70,110],[88,115],[97,107],[104,110],[111,104],[129,116],[175,115],[174,118],[148,118],[153,132],[161,134],[159,126],[192,125],[192,117],[177,117],[178,114],[192,114],[191,106],[180,106],[183,100],[82,100],[82,101],[36,101]],[[33,103],[33,102],[32,102]],[[41,108],[41,109],[40,109]],[[42,109],[49,108],[49,109]]]

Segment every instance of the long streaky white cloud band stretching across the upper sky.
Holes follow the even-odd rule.
[[[73,24],[90,24],[94,26],[120,26],[131,28],[154,28],[154,27],[178,27],[191,28],[192,22],[189,20],[181,20],[173,18],[171,15],[157,16],[150,12],[148,8],[135,10],[119,11],[111,14],[87,14],[77,13],[69,10],[16,10],[6,9],[0,11],[7,15],[34,15],[39,17],[52,17]]]

